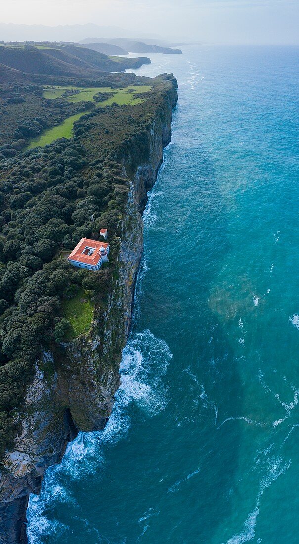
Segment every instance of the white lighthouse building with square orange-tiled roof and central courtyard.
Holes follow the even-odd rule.
[[[74,267],[99,270],[104,262],[108,261],[109,244],[81,238],[80,242],[67,257],[69,263]]]

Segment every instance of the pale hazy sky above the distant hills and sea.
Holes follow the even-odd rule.
[[[299,0],[5,0],[0,20],[92,22],[176,40],[299,44]]]

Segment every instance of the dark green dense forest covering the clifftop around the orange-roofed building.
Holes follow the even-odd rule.
[[[170,77],[171,79],[171,77]],[[46,84],[68,85],[55,100]],[[72,85],[111,90],[149,85],[134,105],[70,102]],[[83,292],[104,304],[123,232],[128,183],[120,157],[147,158],[150,123],[163,108],[168,76],[106,74],[93,79],[33,77],[0,85],[0,455],[13,444],[14,411],[24,398],[41,350],[59,350],[70,338],[64,304]],[[133,89],[129,89],[133,91]],[[127,91],[127,92],[129,92]],[[80,111],[72,138],[29,149],[32,138]],[[76,269],[61,258],[81,237],[108,228],[109,263]]]

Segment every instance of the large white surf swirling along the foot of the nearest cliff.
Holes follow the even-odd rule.
[[[68,527],[48,519],[47,512],[57,502],[76,502],[70,492],[74,479],[87,474],[99,473],[105,462],[107,444],[123,438],[132,423],[128,405],[134,403],[146,417],[152,417],[164,409],[166,393],[162,376],[172,357],[167,344],[155,338],[149,330],[136,333],[127,342],[121,361],[121,385],[116,393],[112,415],[105,429],[100,432],[80,432],[69,443],[61,465],[48,469],[40,496],[31,495],[28,506],[28,541],[39,544],[42,536],[55,538],[66,533]]]

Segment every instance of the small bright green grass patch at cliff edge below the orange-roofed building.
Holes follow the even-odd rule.
[[[89,331],[94,316],[94,305],[84,297],[83,290],[80,290],[72,299],[63,302],[63,314],[72,327],[66,340],[73,340]]]

